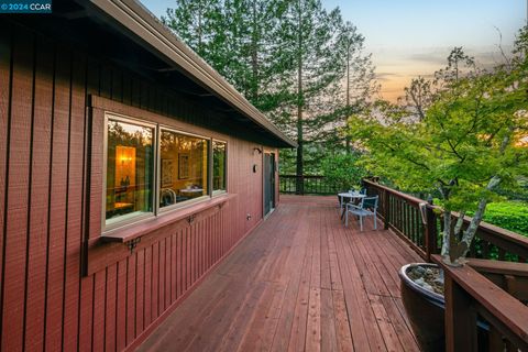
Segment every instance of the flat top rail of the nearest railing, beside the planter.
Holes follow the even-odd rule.
[[[470,265],[452,267],[446,265],[440,255],[431,257],[482,307],[498,318],[518,338],[528,342],[528,307],[498,288]],[[528,270],[528,264],[525,265]]]

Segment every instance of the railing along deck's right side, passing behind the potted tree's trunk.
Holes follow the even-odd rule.
[[[430,261],[432,254],[440,253],[443,222],[435,211],[438,207],[371,180],[363,183],[369,195],[380,196],[378,213],[386,229],[392,229],[426,261]],[[471,218],[465,217],[466,226],[470,221]],[[482,222],[469,257],[526,262],[528,238]]]

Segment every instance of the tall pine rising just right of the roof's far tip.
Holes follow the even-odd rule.
[[[292,88],[295,97],[292,116],[295,117],[297,151],[296,174],[305,174],[305,151],[320,129],[320,119],[334,109],[331,97],[343,76],[341,55],[337,51],[342,18],[339,10],[327,12],[319,0],[290,2],[286,20],[292,42],[288,47],[296,63]],[[302,193],[299,180],[297,190]]]

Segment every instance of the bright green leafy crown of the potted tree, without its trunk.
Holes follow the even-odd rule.
[[[480,199],[496,199],[487,187],[494,176],[507,188],[527,172],[527,150],[515,144],[516,135],[528,129],[528,119],[519,113],[526,97],[524,89],[512,89],[512,74],[498,67],[460,77],[448,66],[442,75],[449,80],[422,121],[384,103],[384,110],[366,119],[351,119],[352,140],[367,148],[367,167],[399,188],[438,189],[448,210],[475,210]],[[384,120],[380,111],[387,113]]]

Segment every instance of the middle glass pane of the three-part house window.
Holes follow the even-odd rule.
[[[201,138],[161,132],[160,207],[208,194],[208,141]]]

